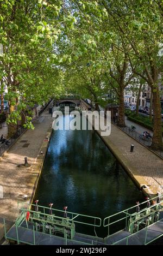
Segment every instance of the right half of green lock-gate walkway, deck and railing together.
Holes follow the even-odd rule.
[[[108,245],[147,245],[163,235],[162,195],[127,210],[106,217],[103,226],[108,228],[104,241]],[[125,227],[110,234],[115,227]]]

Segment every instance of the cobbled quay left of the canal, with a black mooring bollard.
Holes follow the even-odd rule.
[[[33,192],[39,166],[36,164],[36,158],[43,141],[47,141],[46,134],[51,126],[52,116],[45,110],[33,123],[35,129],[27,130],[0,161],[0,185],[3,187],[3,198],[0,198],[2,218],[16,219],[17,201],[22,201],[25,194],[30,199]],[[24,157],[28,158],[30,168],[17,167],[18,164],[24,163]]]

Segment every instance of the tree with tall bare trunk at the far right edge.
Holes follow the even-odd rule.
[[[156,1],[100,1],[115,21],[118,33],[131,45],[135,58],[139,58],[145,75],[139,73],[153,94],[153,140],[152,148],[162,148],[161,106],[158,75],[162,56],[159,49],[162,40],[162,8]],[[136,73],[136,72],[135,72]]]

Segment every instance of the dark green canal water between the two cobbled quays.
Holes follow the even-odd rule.
[[[35,199],[43,206],[68,206],[68,211],[103,219],[144,197],[95,130],[55,130]],[[80,232],[86,229],[77,227]],[[105,234],[97,229],[98,236]]]

